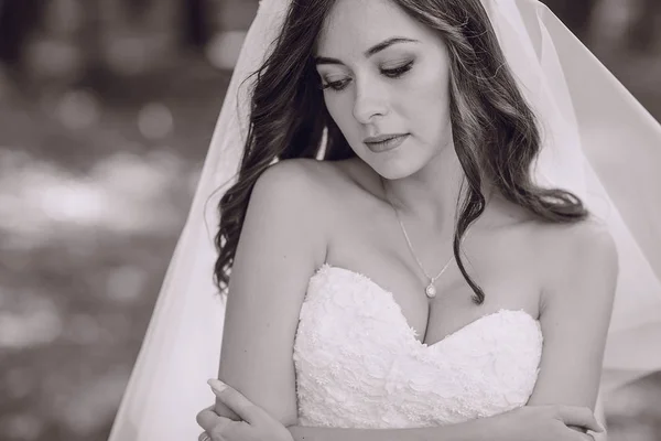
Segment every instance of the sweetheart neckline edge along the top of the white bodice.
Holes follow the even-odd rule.
[[[368,276],[365,276],[358,271],[354,271],[344,267],[339,267],[339,266],[335,266],[335,265],[330,265],[328,262],[324,262],[317,270],[316,272],[312,276],[311,281],[316,278],[319,277],[322,273],[324,272],[328,272],[328,271],[338,271],[338,272],[344,272],[346,275],[349,275],[365,283],[370,284],[371,287],[373,287],[378,292],[381,292],[383,294],[383,298],[386,301],[388,301],[397,311],[398,315],[401,316],[402,321],[407,324],[407,326],[410,329],[410,331],[413,334],[413,338],[415,340],[415,342],[422,346],[422,347],[426,347],[426,348],[432,348],[435,346],[438,346],[441,344],[443,344],[444,342],[452,340],[452,338],[456,338],[458,335],[460,335],[464,332],[468,332],[470,329],[478,326],[481,322],[484,322],[485,320],[489,320],[491,318],[495,318],[497,315],[500,314],[521,314],[524,319],[530,320],[531,322],[538,323],[539,325],[539,320],[534,319],[532,315],[530,315],[527,311],[524,311],[523,309],[518,309],[518,310],[513,310],[513,309],[505,309],[501,308],[498,311],[495,312],[490,312],[487,314],[484,314],[477,319],[475,319],[474,321],[465,324],[464,326],[457,329],[456,331],[451,332],[449,334],[445,335],[443,338],[438,340],[437,342],[434,342],[432,344],[425,343],[425,342],[421,342],[420,340],[418,340],[418,335],[419,333],[415,331],[415,329],[413,329],[410,324],[409,321],[407,320],[407,316],[404,315],[404,313],[402,312],[402,309],[400,306],[400,304],[397,302],[394,294],[387,290],[386,288],[383,288],[381,284],[377,283],[376,281],[373,281],[371,278],[369,278]]]

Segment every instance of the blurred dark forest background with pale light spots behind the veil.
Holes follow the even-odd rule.
[[[546,2],[660,119],[661,0]],[[107,439],[257,3],[0,0],[1,441]]]

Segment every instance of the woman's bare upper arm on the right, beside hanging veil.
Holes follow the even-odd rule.
[[[563,229],[546,244],[552,252],[545,266],[555,270],[548,271],[542,293],[544,346],[528,405],[594,410],[617,283],[617,250],[609,233],[593,222]]]

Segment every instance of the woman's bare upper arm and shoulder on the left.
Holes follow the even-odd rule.
[[[304,160],[283,161],[254,185],[231,269],[218,374],[285,426],[297,421],[301,305],[326,254],[324,192],[312,172]],[[237,417],[221,402],[216,411]]]

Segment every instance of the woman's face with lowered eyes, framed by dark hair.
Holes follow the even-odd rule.
[[[452,142],[447,49],[390,0],[337,0],[316,57],[330,116],[383,178],[418,172]]]

